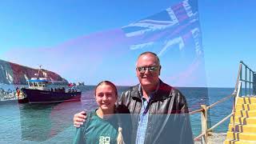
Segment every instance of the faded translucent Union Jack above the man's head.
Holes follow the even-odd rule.
[[[126,37],[138,40],[130,50],[152,48],[161,43],[161,50],[158,50],[161,56],[174,46],[184,50],[187,38],[193,38],[195,54],[202,54],[198,11],[191,6],[195,4],[188,0],[179,2],[158,14],[123,26]]]

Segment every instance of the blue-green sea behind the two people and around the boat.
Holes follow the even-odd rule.
[[[14,90],[14,85],[0,85],[4,90]],[[130,86],[118,86],[118,94]],[[0,143],[72,143],[76,128],[74,114],[95,110],[94,86],[80,86],[81,102],[51,104],[18,104],[15,100],[0,101]],[[198,110],[229,96],[234,88],[177,87],[186,96],[189,110]],[[232,98],[222,102],[208,113],[208,127],[231,113]],[[201,114],[190,115],[194,137],[201,134]],[[226,133],[230,120],[223,122],[213,131]]]

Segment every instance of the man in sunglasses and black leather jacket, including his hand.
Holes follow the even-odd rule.
[[[136,74],[139,84],[121,94],[118,106],[126,106],[132,118],[132,143],[194,143],[186,98],[162,82],[157,54],[138,56]],[[85,112],[74,115],[74,126],[84,122]]]

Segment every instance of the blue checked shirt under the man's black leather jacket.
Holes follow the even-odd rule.
[[[159,88],[159,84],[158,84]],[[157,90],[158,90],[157,88]],[[142,89],[141,86],[138,86],[138,91],[142,95]],[[154,93],[157,91],[155,90]],[[146,98],[143,98],[142,96],[142,109],[139,116],[139,122],[138,122],[138,131],[137,131],[137,137],[136,137],[136,144],[144,144],[145,136],[146,136],[146,126],[149,118],[149,108],[150,108],[150,101],[153,98],[154,93],[150,94],[149,102],[146,101]]]

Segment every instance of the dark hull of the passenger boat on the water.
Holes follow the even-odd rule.
[[[30,103],[73,102],[81,99],[80,91],[65,92],[22,88],[22,92]]]

